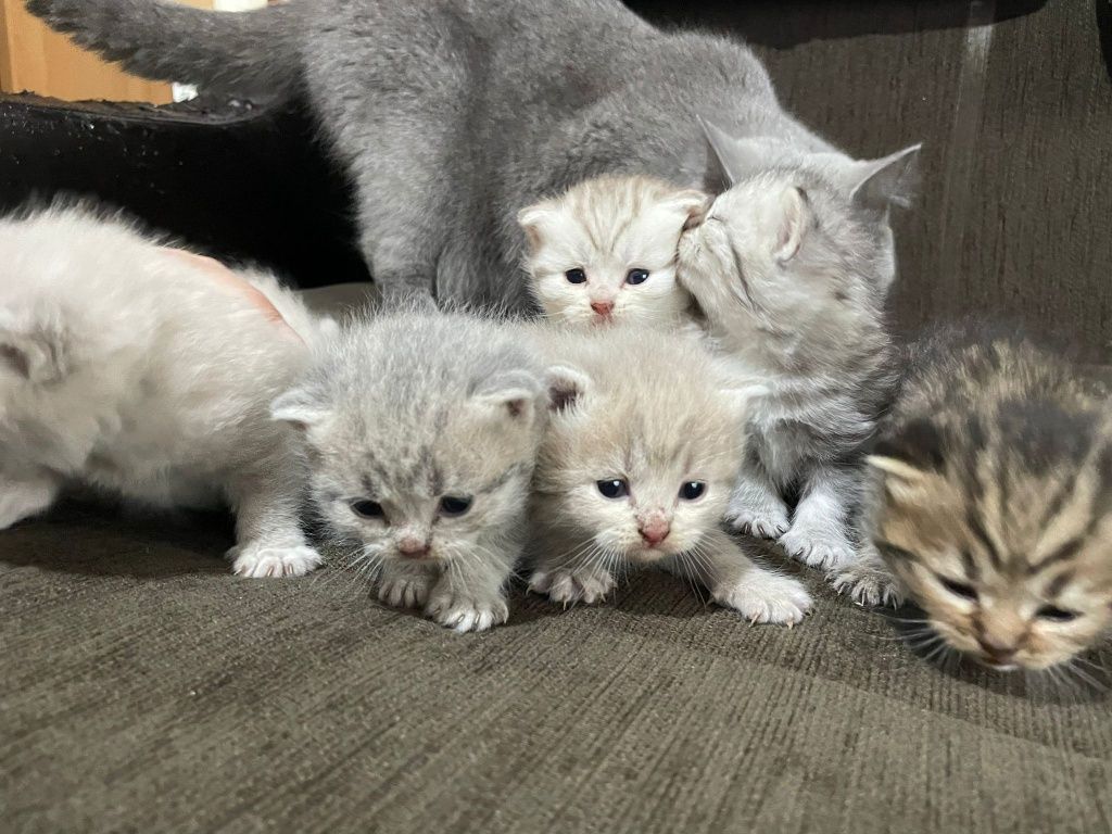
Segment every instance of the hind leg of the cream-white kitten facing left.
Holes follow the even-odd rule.
[[[289,461],[238,476],[228,487],[236,512],[232,573],[254,578],[304,576],[320,565],[298,519],[300,473]]]

